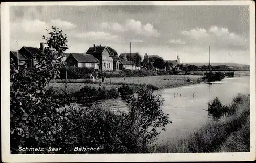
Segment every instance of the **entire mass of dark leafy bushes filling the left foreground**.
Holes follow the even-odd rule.
[[[147,145],[157,139],[156,128],[170,123],[161,109],[163,100],[143,87],[138,89],[137,96],[125,99],[128,113],[114,114],[104,106],[81,110],[63,107],[63,99],[59,100],[54,89],[46,90],[45,86],[60,74],[67,40],[58,28],[53,27],[49,35],[43,37],[48,47],[37,55],[36,67],[17,69],[11,63],[11,153],[74,153],[76,146],[101,147],[97,153],[145,152]],[[92,97],[104,99],[117,95],[117,89],[104,87],[83,87],[78,93],[69,94],[84,102]],[[19,147],[62,150],[19,152]]]

